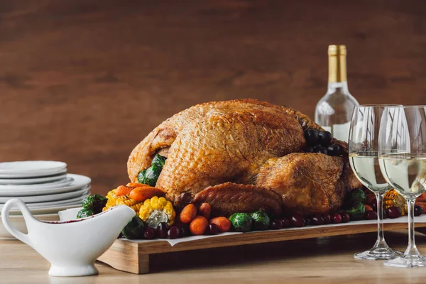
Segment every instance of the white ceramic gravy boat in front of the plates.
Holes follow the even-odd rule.
[[[21,210],[28,234],[11,226],[12,207]],[[12,236],[51,263],[49,275],[84,276],[98,273],[94,261],[109,249],[134,215],[133,209],[120,205],[83,219],[45,222],[35,219],[26,204],[14,198],[4,204],[1,221]]]

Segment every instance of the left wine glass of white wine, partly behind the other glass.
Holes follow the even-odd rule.
[[[355,253],[354,258],[358,259],[391,259],[403,254],[391,249],[383,235],[383,195],[391,189],[391,186],[383,178],[378,165],[378,131],[383,111],[389,106],[398,104],[360,105],[354,107],[352,113],[349,129],[349,163],[356,178],[376,195],[378,215],[376,244],[367,251]]]

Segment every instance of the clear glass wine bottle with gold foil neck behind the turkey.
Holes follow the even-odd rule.
[[[329,80],[327,93],[315,108],[315,122],[334,138],[348,141],[352,111],[359,105],[349,93],[346,80],[346,46],[329,45]]]

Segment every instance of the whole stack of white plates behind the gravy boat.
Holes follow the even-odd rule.
[[[81,207],[90,195],[90,178],[67,173],[67,164],[50,160],[29,160],[0,163],[0,210],[11,198],[26,202],[35,218],[46,221],[59,219],[58,212]],[[18,208],[9,213],[17,229],[25,232]],[[0,226],[0,238],[11,235]]]

